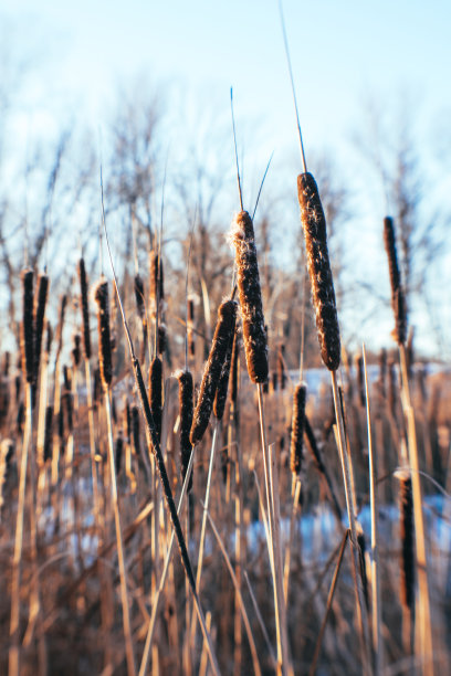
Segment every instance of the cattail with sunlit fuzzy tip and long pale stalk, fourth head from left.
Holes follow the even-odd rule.
[[[113,368],[112,368],[112,346],[111,346],[111,337],[109,337],[108,283],[106,282],[104,277],[102,277],[101,281],[94,287],[94,298],[97,303],[98,362],[99,362],[99,368],[101,368],[102,384],[104,388],[104,397],[105,397],[105,413],[106,413],[107,440],[108,440],[108,463],[109,463],[109,478],[111,478],[111,492],[112,492],[111,497],[112,497],[112,503],[113,503],[114,521],[115,521],[116,540],[117,540],[117,558],[118,558],[119,578],[120,578],[123,625],[124,625],[124,637],[125,637],[125,644],[126,644],[125,654],[126,654],[126,662],[127,662],[127,673],[129,676],[135,676],[136,666],[135,666],[135,655],[134,655],[132,625],[130,625],[130,616],[129,616],[127,573],[126,573],[126,567],[125,567],[120,514],[119,514],[118,495],[117,495],[112,410],[111,410],[111,401],[109,401]]]

